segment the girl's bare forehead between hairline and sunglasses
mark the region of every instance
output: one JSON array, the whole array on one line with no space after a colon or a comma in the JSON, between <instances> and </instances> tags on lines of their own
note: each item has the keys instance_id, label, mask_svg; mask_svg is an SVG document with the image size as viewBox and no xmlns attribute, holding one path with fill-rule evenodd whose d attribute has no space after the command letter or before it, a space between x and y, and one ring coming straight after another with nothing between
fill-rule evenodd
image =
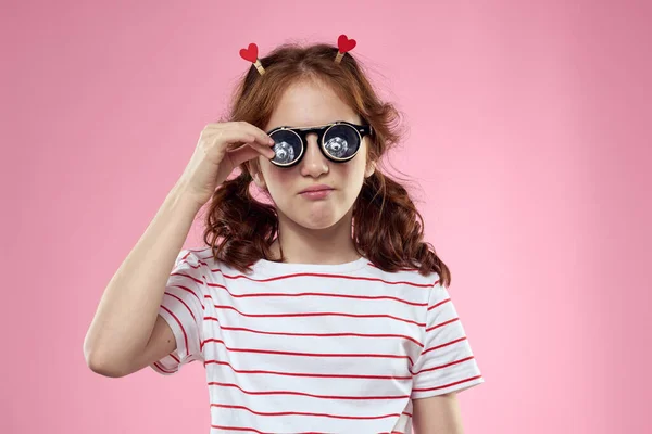
<instances>
[{"instance_id":1,"label":"girl's bare forehead between hairline and sunglasses","mask_svg":"<svg viewBox=\"0 0 652 434\"><path fill-rule=\"evenodd\" d=\"M303 80L289 86L265 126L310 127L335 120L360 123L360 117L333 89L321 81Z\"/></svg>"}]
</instances>

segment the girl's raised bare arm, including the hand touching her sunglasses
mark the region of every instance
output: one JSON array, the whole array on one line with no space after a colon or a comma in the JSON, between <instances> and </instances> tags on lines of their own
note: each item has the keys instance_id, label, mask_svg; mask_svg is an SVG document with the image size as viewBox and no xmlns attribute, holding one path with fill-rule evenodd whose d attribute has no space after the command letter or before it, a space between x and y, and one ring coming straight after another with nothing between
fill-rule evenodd
<instances>
[{"instance_id":1,"label":"girl's raised bare arm, including the hand touching her sunglasses","mask_svg":"<svg viewBox=\"0 0 652 434\"><path fill-rule=\"evenodd\" d=\"M236 167L259 155L272 158L273 144L269 136L246 122L203 128L179 181L102 294L84 340L91 370L106 376L127 375L176 348L159 308L192 221Z\"/></svg>"}]
</instances>

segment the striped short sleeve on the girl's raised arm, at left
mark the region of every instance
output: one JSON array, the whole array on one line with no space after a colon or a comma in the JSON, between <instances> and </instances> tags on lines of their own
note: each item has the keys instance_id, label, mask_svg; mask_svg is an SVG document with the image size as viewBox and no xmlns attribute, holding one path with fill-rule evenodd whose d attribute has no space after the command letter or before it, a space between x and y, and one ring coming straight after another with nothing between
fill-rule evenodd
<instances>
[{"instance_id":1,"label":"striped short sleeve on the girl's raised arm, at left","mask_svg":"<svg viewBox=\"0 0 652 434\"><path fill-rule=\"evenodd\" d=\"M171 375L181 366L203 361L203 310L206 284L199 258L189 250L181 250L165 285L159 315L170 324L177 348L150 367Z\"/></svg>"}]
</instances>

